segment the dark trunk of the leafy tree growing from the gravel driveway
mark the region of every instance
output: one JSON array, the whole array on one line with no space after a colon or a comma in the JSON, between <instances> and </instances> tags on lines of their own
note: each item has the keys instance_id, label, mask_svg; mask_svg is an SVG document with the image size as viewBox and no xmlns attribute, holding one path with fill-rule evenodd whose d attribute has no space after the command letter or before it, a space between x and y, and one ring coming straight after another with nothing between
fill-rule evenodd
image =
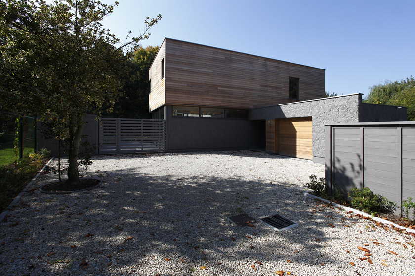
<instances>
[{"instance_id":1,"label":"dark trunk of the leafy tree growing from the gravel driveway","mask_svg":"<svg viewBox=\"0 0 415 276\"><path fill-rule=\"evenodd\" d=\"M73 120L72 126L69 127L68 182L71 184L79 183L78 151L79 142L82 136L83 124L83 116L77 116L77 119Z\"/></svg>"}]
</instances>

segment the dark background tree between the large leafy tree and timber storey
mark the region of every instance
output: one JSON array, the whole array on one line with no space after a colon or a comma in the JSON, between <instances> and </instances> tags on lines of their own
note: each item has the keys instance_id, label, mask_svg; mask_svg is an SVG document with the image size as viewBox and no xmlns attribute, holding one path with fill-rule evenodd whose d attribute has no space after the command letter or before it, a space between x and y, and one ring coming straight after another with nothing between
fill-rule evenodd
<instances>
[{"instance_id":1,"label":"dark background tree between the large leafy tree and timber storey","mask_svg":"<svg viewBox=\"0 0 415 276\"><path fill-rule=\"evenodd\" d=\"M122 86L123 95L115 103L112 112L103 112L103 116L114 118L151 118L148 112L148 94L150 93L150 65L159 50L159 46L139 46L132 51L126 63L127 73Z\"/></svg>"}]
</instances>

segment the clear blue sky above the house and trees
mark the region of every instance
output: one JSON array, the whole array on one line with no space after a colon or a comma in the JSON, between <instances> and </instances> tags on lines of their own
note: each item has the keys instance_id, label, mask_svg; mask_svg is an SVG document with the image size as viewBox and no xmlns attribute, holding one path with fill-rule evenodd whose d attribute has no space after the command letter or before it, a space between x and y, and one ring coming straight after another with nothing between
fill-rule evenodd
<instances>
[{"instance_id":1,"label":"clear blue sky above the house and trees","mask_svg":"<svg viewBox=\"0 0 415 276\"><path fill-rule=\"evenodd\" d=\"M113 1L102 0L104 3ZM104 26L326 69L326 91L367 94L374 84L415 76L415 1L119 0Z\"/></svg>"}]
</instances>

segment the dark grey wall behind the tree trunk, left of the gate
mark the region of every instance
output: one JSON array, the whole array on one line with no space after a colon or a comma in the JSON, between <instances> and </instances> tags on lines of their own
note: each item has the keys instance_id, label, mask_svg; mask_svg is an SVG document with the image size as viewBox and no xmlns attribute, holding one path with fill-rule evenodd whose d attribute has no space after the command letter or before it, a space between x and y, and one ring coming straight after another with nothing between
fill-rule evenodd
<instances>
[{"instance_id":1,"label":"dark grey wall behind the tree trunk, left of the gate","mask_svg":"<svg viewBox=\"0 0 415 276\"><path fill-rule=\"evenodd\" d=\"M81 139L81 142L84 140L88 140L91 145L96 145L97 141L97 133L98 133L98 122L96 121L95 115L86 115L84 117L85 125L83 127L83 135L86 135L85 138ZM58 156L58 141L55 139L46 139L44 137L45 126L42 123L38 123L38 149L47 148L51 151L52 156ZM95 153L98 152L98 148L96 148ZM61 149L61 155L67 156L68 153L63 152Z\"/></svg>"}]
</instances>

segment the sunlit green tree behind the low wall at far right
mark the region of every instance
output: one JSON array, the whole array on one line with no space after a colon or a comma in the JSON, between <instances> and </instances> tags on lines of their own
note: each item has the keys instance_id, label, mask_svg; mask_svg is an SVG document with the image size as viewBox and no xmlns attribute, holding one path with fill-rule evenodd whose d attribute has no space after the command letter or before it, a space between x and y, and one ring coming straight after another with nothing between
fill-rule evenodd
<instances>
[{"instance_id":1,"label":"sunlit green tree behind the low wall at far right","mask_svg":"<svg viewBox=\"0 0 415 276\"><path fill-rule=\"evenodd\" d=\"M415 121L415 78L373 85L365 102L407 107L408 121Z\"/></svg>"}]
</instances>

